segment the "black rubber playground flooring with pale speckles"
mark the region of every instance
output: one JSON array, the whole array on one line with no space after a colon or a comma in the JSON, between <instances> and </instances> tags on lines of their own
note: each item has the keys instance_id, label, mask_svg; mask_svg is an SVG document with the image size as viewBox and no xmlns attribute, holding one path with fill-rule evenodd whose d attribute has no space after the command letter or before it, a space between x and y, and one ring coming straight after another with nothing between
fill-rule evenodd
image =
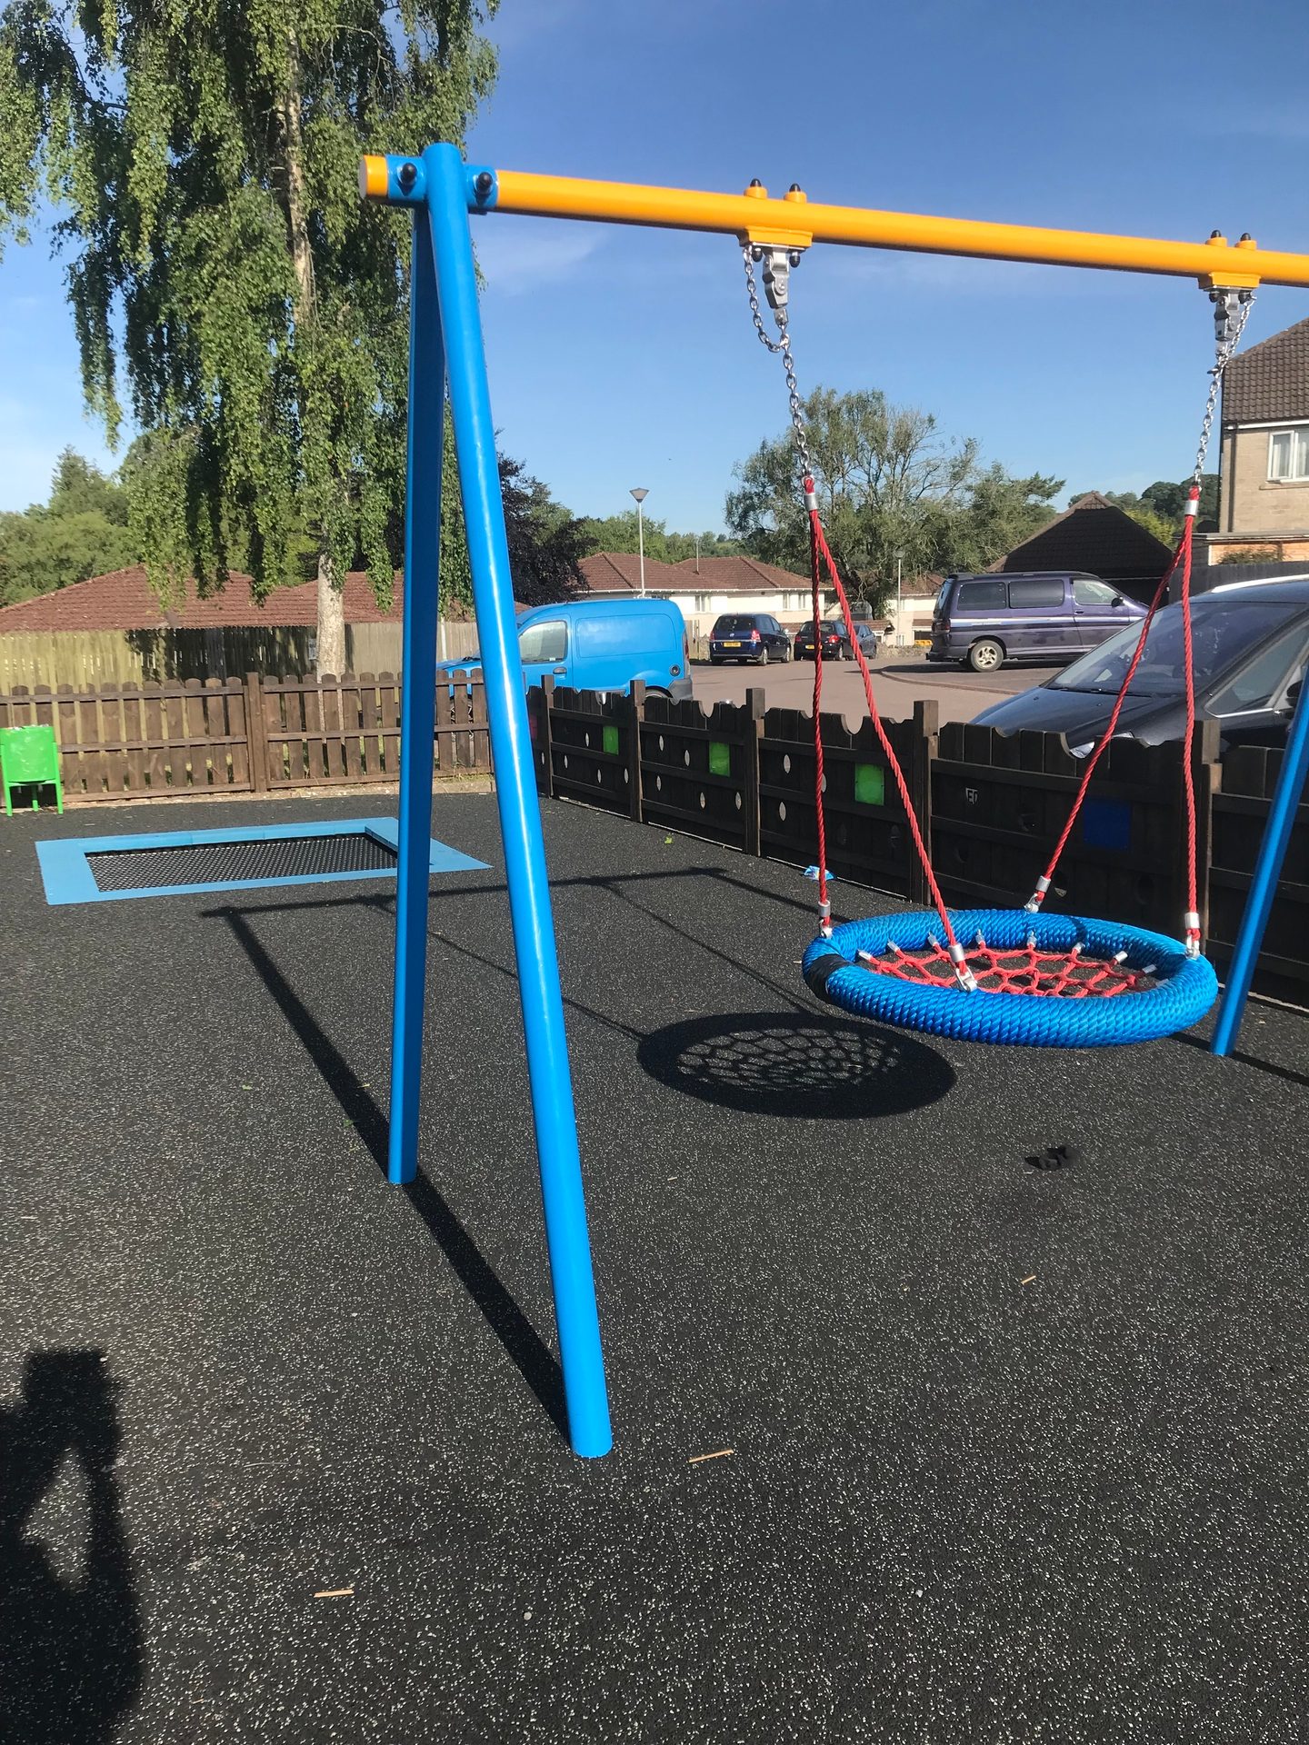
<instances>
[{"instance_id":1,"label":"black rubber playground flooring with pale speckles","mask_svg":"<svg viewBox=\"0 0 1309 1745\"><path fill-rule=\"evenodd\" d=\"M433 810L490 871L433 881L414 1192L387 888L49 909L31 848L361 810L0 820L2 1740L1306 1736L1309 1019L897 1037L803 989L791 869L550 804L579 1462L494 801Z\"/></svg>"}]
</instances>

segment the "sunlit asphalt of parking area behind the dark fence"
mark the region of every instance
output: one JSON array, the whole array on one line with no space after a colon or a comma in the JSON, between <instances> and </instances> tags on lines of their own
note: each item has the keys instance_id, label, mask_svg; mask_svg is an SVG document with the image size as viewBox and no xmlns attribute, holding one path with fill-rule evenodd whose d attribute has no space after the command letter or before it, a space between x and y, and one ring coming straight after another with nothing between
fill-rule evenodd
<instances>
[{"instance_id":1,"label":"sunlit asphalt of parking area behind the dark fence","mask_svg":"<svg viewBox=\"0 0 1309 1745\"><path fill-rule=\"evenodd\" d=\"M892 721L913 714L920 696L934 696L942 721L972 721L983 708L1016 691L1044 684L1058 667L1005 667L998 674L967 672L963 667L934 667L925 660L888 649L873 668L873 695ZM763 689L770 708L808 708L813 698L813 663L787 661L768 667L691 668L695 695L702 703L742 701L747 688ZM852 661L824 661L822 707L850 721L867 714L864 682Z\"/></svg>"}]
</instances>

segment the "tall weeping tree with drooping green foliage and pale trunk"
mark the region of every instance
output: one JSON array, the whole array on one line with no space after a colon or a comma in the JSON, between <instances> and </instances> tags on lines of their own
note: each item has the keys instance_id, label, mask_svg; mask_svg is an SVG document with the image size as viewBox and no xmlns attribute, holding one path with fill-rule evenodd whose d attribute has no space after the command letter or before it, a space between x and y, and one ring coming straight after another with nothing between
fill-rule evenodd
<instances>
[{"instance_id":1,"label":"tall weeping tree with drooping green foliage and pale trunk","mask_svg":"<svg viewBox=\"0 0 1309 1745\"><path fill-rule=\"evenodd\" d=\"M229 565L386 602L403 501L408 220L358 199L363 152L463 143L497 0L10 0L0 243L54 209L87 405L117 441L161 597ZM302 571L300 571L302 572Z\"/></svg>"}]
</instances>

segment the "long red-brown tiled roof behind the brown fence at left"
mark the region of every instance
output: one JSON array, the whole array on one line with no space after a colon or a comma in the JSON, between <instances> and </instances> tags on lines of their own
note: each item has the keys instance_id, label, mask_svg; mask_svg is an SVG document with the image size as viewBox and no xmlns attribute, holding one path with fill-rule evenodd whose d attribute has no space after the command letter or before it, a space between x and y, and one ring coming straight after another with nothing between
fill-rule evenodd
<instances>
[{"instance_id":1,"label":"long red-brown tiled roof behind the brown fence at left","mask_svg":"<svg viewBox=\"0 0 1309 1745\"><path fill-rule=\"evenodd\" d=\"M363 572L346 578L347 625L396 625L401 616L403 578L396 576L394 602L382 612ZM19 630L216 630L222 626L279 628L318 623L318 583L274 588L260 606L250 592L250 576L230 574L227 586L201 600L195 583L187 583L187 597L162 611L152 592L145 567L115 569L106 576L75 581L54 593L37 595L0 607L0 635Z\"/></svg>"}]
</instances>

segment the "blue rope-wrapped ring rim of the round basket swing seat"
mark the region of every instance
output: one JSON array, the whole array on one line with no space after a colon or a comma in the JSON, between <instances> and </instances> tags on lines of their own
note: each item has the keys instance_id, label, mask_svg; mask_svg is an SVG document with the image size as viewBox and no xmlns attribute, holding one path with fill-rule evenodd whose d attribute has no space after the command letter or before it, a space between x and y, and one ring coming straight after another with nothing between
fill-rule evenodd
<instances>
[{"instance_id":1,"label":"blue rope-wrapped ring rim of the round basket swing seat","mask_svg":"<svg viewBox=\"0 0 1309 1745\"><path fill-rule=\"evenodd\" d=\"M845 921L831 939L815 939L803 958L803 975L813 993L860 1017L880 1019L934 1037L962 1042L1000 1042L1061 1049L1100 1049L1122 1042L1152 1042L1190 1030L1218 996L1218 977L1206 958L1189 958L1185 946L1126 921L1091 921L1077 914L1028 914L1025 909L951 909L958 939L979 932L997 951L1019 949L1035 934L1049 951L1070 951L1080 942L1087 956L1112 958L1126 951L1129 968L1154 965L1159 979L1143 993L1070 1000L1031 993L988 993L934 982L902 981L864 968L859 951L881 956L888 942L920 951L929 934L941 934L935 911L874 914Z\"/></svg>"}]
</instances>

